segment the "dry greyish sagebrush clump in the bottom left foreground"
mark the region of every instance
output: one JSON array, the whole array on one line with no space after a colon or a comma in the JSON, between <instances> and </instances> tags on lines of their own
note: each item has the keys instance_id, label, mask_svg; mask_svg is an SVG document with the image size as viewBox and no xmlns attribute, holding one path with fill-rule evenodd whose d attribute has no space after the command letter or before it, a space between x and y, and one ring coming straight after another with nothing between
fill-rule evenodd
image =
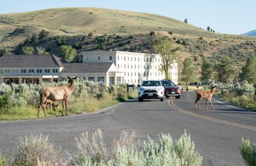
<instances>
[{"instance_id":1,"label":"dry greyish sagebrush clump in the bottom left foreground","mask_svg":"<svg viewBox=\"0 0 256 166\"><path fill-rule=\"evenodd\" d=\"M20 140L14 163L17 165L55 164L60 160L60 149L56 150L48 136L30 135Z\"/></svg>"}]
</instances>

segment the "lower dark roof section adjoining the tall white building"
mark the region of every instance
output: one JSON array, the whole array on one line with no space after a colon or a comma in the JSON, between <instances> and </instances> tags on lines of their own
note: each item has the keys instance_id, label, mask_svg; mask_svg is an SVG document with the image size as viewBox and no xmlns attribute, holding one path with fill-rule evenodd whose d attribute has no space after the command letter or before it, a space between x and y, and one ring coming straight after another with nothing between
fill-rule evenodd
<instances>
[{"instance_id":1,"label":"lower dark roof section adjoining the tall white building","mask_svg":"<svg viewBox=\"0 0 256 166\"><path fill-rule=\"evenodd\" d=\"M106 73L113 63L63 63L60 73Z\"/></svg>"}]
</instances>

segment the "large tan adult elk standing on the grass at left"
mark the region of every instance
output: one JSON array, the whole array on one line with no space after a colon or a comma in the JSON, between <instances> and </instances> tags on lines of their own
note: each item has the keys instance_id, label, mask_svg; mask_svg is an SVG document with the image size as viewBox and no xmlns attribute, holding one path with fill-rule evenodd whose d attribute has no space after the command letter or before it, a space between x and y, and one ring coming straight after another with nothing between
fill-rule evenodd
<instances>
[{"instance_id":1,"label":"large tan adult elk standing on the grass at left","mask_svg":"<svg viewBox=\"0 0 256 166\"><path fill-rule=\"evenodd\" d=\"M47 100L51 101L62 101L62 116L64 116L64 107L66 108L66 116L67 116L67 101L70 98L72 92L74 91L75 86L75 78L68 78L68 86L59 86L59 87L45 87L41 90L40 93L40 105L38 107L37 117L39 117L39 113L41 107L44 109L44 116L46 116L45 105ZM64 106L65 105L65 106Z\"/></svg>"}]
</instances>

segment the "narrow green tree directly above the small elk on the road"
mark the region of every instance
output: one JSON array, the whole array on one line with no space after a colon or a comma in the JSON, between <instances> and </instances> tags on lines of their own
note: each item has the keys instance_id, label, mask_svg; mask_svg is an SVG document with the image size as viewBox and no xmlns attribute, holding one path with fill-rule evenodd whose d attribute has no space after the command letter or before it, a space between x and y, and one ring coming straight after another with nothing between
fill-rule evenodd
<instances>
[{"instance_id":1,"label":"narrow green tree directly above the small elk on the road","mask_svg":"<svg viewBox=\"0 0 256 166\"><path fill-rule=\"evenodd\" d=\"M213 66L208 58L202 59L202 67L201 67L201 81L208 81L212 79L213 74Z\"/></svg>"}]
</instances>

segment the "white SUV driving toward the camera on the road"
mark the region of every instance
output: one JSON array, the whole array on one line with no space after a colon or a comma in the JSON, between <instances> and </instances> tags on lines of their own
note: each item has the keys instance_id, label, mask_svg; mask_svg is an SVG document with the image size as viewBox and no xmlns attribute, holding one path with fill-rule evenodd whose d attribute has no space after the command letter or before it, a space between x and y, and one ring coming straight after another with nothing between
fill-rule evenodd
<instances>
[{"instance_id":1,"label":"white SUV driving toward the camera on the road","mask_svg":"<svg viewBox=\"0 0 256 166\"><path fill-rule=\"evenodd\" d=\"M139 86L138 100L160 98L163 101L165 97L165 88L160 80L144 80Z\"/></svg>"}]
</instances>

